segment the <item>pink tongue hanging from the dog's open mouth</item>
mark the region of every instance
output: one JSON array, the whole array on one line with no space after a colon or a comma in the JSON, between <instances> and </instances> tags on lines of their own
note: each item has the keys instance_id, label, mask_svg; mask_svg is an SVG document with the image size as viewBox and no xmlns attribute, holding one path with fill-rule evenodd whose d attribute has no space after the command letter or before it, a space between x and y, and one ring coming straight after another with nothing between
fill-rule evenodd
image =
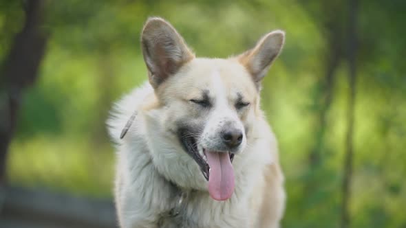
<instances>
[{"instance_id":1,"label":"pink tongue hanging from the dog's open mouth","mask_svg":"<svg viewBox=\"0 0 406 228\"><path fill-rule=\"evenodd\" d=\"M234 170L228 152L206 152L209 172L209 193L217 201L225 201L234 192Z\"/></svg>"}]
</instances>

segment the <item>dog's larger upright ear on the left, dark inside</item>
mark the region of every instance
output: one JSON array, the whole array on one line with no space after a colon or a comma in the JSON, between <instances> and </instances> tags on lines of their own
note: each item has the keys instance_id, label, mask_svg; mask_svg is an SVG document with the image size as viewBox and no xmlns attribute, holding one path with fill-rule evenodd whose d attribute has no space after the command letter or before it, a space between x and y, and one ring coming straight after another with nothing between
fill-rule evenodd
<instances>
[{"instance_id":1,"label":"dog's larger upright ear on the left, dark inside","mask_svg":"<svg viewBox=\"0 0 406 228\"><path fill-rule=\"evenodd\" d=\"M175 28L157 17L150 18L145 23L141 47L153 88L157 88L184 63L195 57Z\"/></svg>"}]
</instances>

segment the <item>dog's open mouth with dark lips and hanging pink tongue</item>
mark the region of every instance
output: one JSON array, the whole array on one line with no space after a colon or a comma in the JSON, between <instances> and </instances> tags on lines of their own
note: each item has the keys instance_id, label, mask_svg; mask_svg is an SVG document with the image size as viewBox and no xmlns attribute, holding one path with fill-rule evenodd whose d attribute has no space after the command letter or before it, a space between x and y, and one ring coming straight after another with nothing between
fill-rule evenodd
<instances>
[{"instance_id":1,"label":"dog's open mouth with dark lips and hanging pink tongue","mask_svg":"<svg viewBox=\"0 0 406 228\"><path fill-rule=\"evenodd\" d=\"M203 148L202 153L197 148L196 139L186 130L180 131L180 141L184 150L193 157L204 178L209 181L209 193L217 201L225 201L234 192L234 170L231 152L211 151Z\"/></svg>"}]
</instances>

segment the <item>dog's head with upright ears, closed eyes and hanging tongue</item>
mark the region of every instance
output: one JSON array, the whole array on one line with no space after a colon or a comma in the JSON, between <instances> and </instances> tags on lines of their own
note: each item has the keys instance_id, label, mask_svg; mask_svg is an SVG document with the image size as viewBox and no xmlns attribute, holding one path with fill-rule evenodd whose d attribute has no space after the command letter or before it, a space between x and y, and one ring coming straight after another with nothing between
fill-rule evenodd
<instances>
[{"instance_id":1,"label":"dog's head with upright ears, closed eyes and hanging tongue","mask_svg":"<svg viewBox=\"0 0 406 228\"><path fill-rule=\"evenodd\" d=\"M284 45L284 32L228 59L195 58L167 21L152 18L141 37L149 82L164 112L162 130L173 135L209 181L216 200L231 197L233 157L244 152L259 111L260 82ZM195 166L195 165L194 165Z\"/></svg>"}]
</instances>

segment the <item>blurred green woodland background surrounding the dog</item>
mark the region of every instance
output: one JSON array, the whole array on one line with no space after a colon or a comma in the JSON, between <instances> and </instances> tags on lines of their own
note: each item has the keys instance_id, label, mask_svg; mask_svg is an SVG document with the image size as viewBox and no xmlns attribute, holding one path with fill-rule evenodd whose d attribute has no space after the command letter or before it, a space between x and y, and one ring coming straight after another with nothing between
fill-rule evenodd
<instances>
[{"instance_id":1,"label":"blurred green woodland background surrounding the dog","mask_svg":"<svg viewBox=\"0 0 406 228\"><path fill-rule=\"evenodd\" d=\"M169 20L197 56L270 30L264 79L284 227L406 227L406 1L0 1L0 227L114 227L112 102L147 79L139 37Z\"/></svg>"}]
</instances>

